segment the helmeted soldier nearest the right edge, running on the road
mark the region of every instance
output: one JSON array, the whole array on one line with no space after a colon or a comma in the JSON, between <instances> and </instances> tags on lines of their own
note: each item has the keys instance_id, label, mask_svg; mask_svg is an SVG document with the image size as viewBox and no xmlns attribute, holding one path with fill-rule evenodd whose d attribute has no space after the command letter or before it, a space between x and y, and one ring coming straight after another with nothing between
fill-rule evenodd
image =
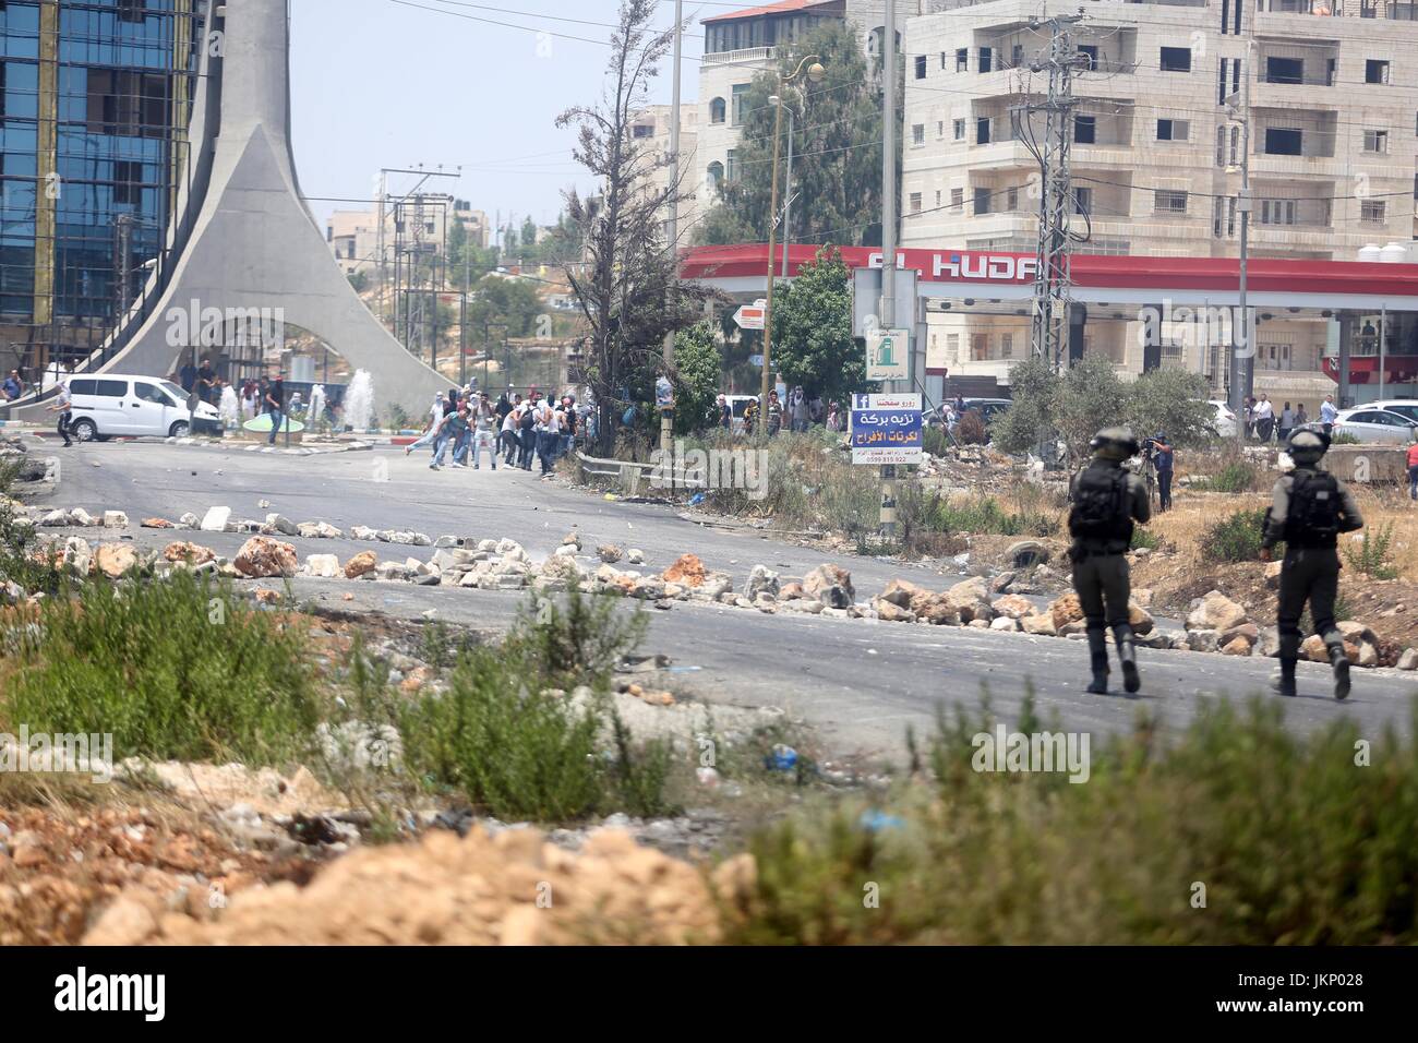
<instances>
[{"instance_id":1,"label":"helmeted soldier nearest the right edge, running on the road","mask_svg":"<svg viewBox=\"0 0 1418 1043\"><path fill-rule=\"evenodd\" d=\"M1261 561L1271 561L1273 548L1285 541L1280 566L1280 678L1276 691L1295 695L1295 663L1300 657L1300 613L1310 603L1314 633L1324 639L1334 668L1334 698L1349 695L1349 656L1344 637L1334 626L1334 597L1339 595L1339 534L1364 526L1354 494L1320 460L1329 451L1329 437L1300 430L1290 436L1289 454L1295 470L1275 482L1275 498L1265 515Z\"/></svg>"}]
</instances>

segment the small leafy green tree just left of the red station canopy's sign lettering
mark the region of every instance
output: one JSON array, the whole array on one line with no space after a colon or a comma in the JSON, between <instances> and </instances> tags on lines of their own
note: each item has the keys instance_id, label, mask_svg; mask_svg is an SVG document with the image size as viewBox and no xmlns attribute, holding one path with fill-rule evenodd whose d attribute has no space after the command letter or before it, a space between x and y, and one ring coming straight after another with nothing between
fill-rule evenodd
<instances>
[{"instance_id":1,"label":"small leafy green tree just left of the red station canopy's sign lettering","mask_svg":"<svg viewBox=\"0 0 1418 1043\"><path fill-rule=\"evenodd\" d=\"M852 336L847 264L822 247L791 284L774 288L771 365L788 387L841 399L864 390L866 353Z\"/></svg>"}]
</instances>

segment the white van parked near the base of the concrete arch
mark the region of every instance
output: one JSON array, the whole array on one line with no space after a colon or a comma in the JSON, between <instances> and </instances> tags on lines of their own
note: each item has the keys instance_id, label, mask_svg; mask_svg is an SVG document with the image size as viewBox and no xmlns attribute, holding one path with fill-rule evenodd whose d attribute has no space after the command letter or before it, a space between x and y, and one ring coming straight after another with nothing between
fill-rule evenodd
<instances>
[{"instance_id":1,"label":"white van parked near the base of the concrete arch","mask_svg":"<svg viewBox=\"0 0 1418 1043\"><path fill-rule=\"evenodd\" d=\"M197 434L221 433L216 407L197 403L194 416L187 409L187 393L172 380L121 373L75 376L69 377L69 433L79 441L113 436L182 438L193 429Z\"/></svg>"}]
</instances>

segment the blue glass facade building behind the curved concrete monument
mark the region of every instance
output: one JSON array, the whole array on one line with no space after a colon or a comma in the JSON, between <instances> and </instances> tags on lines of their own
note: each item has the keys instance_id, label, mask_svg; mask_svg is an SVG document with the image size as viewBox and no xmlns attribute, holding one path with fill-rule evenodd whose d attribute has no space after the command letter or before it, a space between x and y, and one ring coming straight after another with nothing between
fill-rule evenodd
<instances>
[{"instance_id":1,"label":"blue glass facade building behind the curved concrete monument","mask_svg":"<svg viewBox=\"0 0 1418 1043\"><path fill-rule=\"evenodd\" d=\"M4 370L72 368L166 260L204 9L0 0Z\"/></svg>"}]
</instances>

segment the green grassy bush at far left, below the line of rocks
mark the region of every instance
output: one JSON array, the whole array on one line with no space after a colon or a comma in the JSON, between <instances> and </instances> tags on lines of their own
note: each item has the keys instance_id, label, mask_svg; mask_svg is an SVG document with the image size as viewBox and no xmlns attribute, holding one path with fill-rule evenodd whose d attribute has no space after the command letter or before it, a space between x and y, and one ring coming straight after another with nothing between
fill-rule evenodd
<instances>
[{"instance_id":1,"label":"green grassy bush at far left, below the line of rocks","mask_svg":"<svg viewBox=\"0 0 1418 1043\"><path fill-rule=\"evenodd\" d=\"M118 756L278 763L319 711L302 627L187 572L45 599L0 708L35 732L112 732Z\"/></svg>"}]
</instances>

